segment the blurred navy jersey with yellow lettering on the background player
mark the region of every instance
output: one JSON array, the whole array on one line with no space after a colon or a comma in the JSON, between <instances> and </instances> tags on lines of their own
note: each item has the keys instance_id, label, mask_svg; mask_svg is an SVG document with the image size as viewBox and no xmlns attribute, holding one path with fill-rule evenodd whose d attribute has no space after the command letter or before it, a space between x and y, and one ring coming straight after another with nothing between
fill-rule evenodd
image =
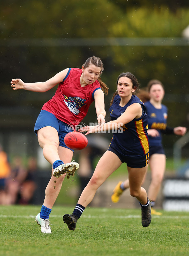
<instances>
[{"instance_id":1,"label":"blurred navy jersey with yellow lettering on the background player","mask_svg":"<svg viewBox=\"0 0 189 256\"><path fill-rule=\"evenodd\" d=\"M161 131L167 127L167 112L168 109L165 105L162 105L161 109L156 109L150 101L145 102L146 114L148 115L148 128L156 129L159 132L159 136L152 137L149 135L149 146L162 147L162 134Z\"/></svg>"}]
</instances>

